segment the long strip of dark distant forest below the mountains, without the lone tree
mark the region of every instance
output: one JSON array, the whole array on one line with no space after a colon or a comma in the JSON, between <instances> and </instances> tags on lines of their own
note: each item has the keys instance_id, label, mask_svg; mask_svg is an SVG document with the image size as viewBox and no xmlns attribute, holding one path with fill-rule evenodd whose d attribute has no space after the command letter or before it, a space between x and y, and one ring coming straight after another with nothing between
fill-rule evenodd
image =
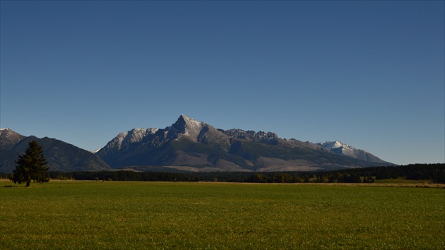
<instances>
[{"instance_id":1,"label":"long strip of dark distant forest below the mountains, without the lone tree","mask_svg":"<svg viewBox=\"0 0 445 250\"><path fill-rule=\"evenodd\" d=\"M445 164L411 164L401 166L363 167L317 172L48 172L51 179L76 179L97 181L223 181L257 183L372 183L379 179L430 179L445 183ZM0 174L9 178L10 174Z\"/></svg>"}]
</instances>

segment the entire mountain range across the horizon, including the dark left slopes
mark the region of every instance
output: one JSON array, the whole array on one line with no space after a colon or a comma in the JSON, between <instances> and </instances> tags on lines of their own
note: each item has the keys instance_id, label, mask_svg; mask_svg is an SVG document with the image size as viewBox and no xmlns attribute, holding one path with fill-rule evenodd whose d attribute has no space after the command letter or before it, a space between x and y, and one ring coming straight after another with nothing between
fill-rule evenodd
<instances>
[{"instance_id":1,"label":"entire mountain range across the horizon, including the dark left slopes","mask_svg":"<svg viewBox=\"0 0 445 250\"><path fill-rule=\"evenodd\" d=\"M131 129L119 133L94 153L52 138L22 136L0 130L0 172L30 140L43 146L53 171L135 169L168 172L307 171L393 165L340 141L326 143L283 139L276 133L215 129L182 114L165 129Z\"/></svg>"}]
</instances>

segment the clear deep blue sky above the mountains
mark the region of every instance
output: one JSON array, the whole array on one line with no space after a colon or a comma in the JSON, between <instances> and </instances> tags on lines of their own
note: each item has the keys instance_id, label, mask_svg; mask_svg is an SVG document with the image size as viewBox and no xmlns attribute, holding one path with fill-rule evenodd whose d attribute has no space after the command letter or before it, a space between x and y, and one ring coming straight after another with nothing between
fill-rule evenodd
<instances>
[{"instance_id":1,"label":"clear deep blue sky above the mountains","mask_svg":"<svg viewBox=\"0 0 445 250\"><path fill-rule=\"evenodd\" d=\"M180 114L445 162L444 1L1 1L1 124L94 150Z\"/></svg>"}]
</instances>

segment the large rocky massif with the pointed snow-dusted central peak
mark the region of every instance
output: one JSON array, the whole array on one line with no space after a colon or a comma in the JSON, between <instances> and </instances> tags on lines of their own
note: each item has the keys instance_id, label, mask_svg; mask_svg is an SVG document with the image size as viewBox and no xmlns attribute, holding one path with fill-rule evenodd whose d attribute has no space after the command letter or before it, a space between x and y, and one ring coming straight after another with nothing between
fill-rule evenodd
<instances>
[{"instance_id":1,"label":"large rocky massif with the pointed snow-dusted central peak","mask_svg":"<svg viewBox=\"0 0 445 250\"><path fill-rule=\"evenodd\" d=\"M339 154L323 145L277 134L215 129L181 115L165 129L119 133L97 156L114 168L183 171L304 171L391 165L377 157ZM360 154L358 154L360 155ZM369 154L371 155L371 154Z\"/></svg>"}]
</instances>

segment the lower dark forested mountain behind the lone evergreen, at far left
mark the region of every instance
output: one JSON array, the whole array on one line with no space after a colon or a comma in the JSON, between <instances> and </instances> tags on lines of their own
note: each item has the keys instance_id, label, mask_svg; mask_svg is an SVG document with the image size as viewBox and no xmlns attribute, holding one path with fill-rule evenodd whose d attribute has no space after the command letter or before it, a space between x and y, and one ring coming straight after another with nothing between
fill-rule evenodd
<instances>
[{"instance_id":1,"label":"lower dark forested mountain behind the lone evergreen, at far left","mask_svg":"<svg viewBox=\"0 0 445 250\"><path fill-rule=\"evenodd\" d=\"M100 157L69 143L52 138L22 136L11 129L0 130L0 172L12 172L15 160L23 155L30 141L37 141L43 147L49 171L73 172L111 169Z\"/></svg>"}]
</instances>

